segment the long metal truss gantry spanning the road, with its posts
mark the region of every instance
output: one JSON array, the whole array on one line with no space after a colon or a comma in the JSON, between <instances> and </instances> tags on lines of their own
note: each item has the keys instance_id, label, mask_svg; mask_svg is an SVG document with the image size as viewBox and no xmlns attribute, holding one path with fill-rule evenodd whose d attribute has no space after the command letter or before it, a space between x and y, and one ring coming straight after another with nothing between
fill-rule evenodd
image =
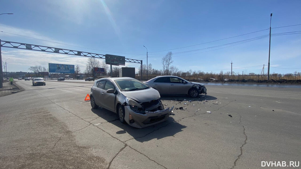
<instances>
[{"instance_id":1,"label":"long metal truss gantry spanning the road, with its posts","mask_svg":"<svg viewBox=\"0 0 301 169\"><path fill-rule=\"evenodd\" d=\"M0 45L0 62L2 62L2 56L1 56L1 48L16 48L16 49L25 49L25 50L31 50L31 51L41 51L41 52L51 52L51 53L57 53L57 54L69 54L74 56L83 56L83 57L94 57L99 59L105 59L106 55L108 54L95 54L91 52L82 52L82 51L75 51L70 49L62 49L62 48L54 48L49 46L42 46L42 45L33 45L33 44L27 44L27 43L20 43L20 42L12 42L12 41L2 41L0 39L1 45ZM142 70L142 60L136 60L136 59L129 59L125 58L126 62L131 63L140 63L141 70ZM0 88L2 88L2 82L3 82L3 71L2 71L2 63L0 65L0 76L1 76L1 84ZM142 79L142 71L141 71L141 79Z\"/></svg>"}]
</instances>

